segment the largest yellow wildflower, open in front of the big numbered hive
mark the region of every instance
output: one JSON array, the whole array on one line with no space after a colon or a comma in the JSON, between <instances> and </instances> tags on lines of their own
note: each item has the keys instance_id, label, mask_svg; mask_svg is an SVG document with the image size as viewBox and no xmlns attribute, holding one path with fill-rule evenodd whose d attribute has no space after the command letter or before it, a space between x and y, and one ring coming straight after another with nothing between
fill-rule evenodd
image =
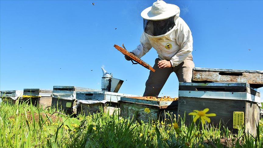
<instances>
[{"instance_id":1,"label":"largest yellow wildflower, open in front of the big numbered hive","mask_svg":"<svg viewBox=\"0 0 263 148\"><path fill-rule=\"evenodd\" d=\"M215 113L206 114L208 111L209 111L209 108L205 108L203 111L194 110L194 112L191 112L188 115L195 115L193 122L196 122L198 118L201 118L202 124L205 124L205 121L207 121L208 123L211 122L210 118L208 117L216 116Z\"/></svg>"}]
</instances>

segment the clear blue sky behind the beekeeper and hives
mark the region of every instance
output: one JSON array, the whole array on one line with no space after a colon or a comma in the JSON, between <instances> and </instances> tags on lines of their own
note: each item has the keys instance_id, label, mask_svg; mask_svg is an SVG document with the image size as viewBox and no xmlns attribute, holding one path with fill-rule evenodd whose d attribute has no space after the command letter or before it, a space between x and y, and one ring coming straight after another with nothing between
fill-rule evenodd
<instances>
[{"instance_id":1,"label":"clear blue sky behind the beekeeper and hives","mask_svg":"<svg viewBox=\"0 0 263 148\"><path fill-rule=\"evenodd\" d=\"M153 2L1 0L0 89L100 89L104 67L124 80L120 93L142 95L149 70L126 61L113 45L136 48L140 13ZM180 7L191 29L196 67L263 70L262 1L166 2ZM142 60L153 66L156 57L151 49ZM163 95L178 96L175 74Z\"/></svg>"}]
</instances>

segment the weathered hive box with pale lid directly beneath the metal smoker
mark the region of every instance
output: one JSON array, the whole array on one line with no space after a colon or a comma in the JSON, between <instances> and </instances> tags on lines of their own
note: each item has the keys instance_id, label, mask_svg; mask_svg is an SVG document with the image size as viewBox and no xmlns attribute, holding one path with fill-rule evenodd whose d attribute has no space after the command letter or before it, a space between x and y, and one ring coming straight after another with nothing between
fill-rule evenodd
<instances>
[{"instance_id":1,"label":"weathered hive box with pale lid directly beneath the metal smoker","mask_svg":"<svg viewBox=\"0 0 263 148\"><path fill-rule=\"evenodd\" d=\"M77 113L84 112L85 115L89 115L100 111L102 107L105 113L109 112L110 115L113 113L118 113L119 104L118 101L121 97L139 97L137 95L124 94L124 93L114 93L107 91L94 91L94 92L77 92L76 99L77 103Z\"/></svg>"}]
</instances>

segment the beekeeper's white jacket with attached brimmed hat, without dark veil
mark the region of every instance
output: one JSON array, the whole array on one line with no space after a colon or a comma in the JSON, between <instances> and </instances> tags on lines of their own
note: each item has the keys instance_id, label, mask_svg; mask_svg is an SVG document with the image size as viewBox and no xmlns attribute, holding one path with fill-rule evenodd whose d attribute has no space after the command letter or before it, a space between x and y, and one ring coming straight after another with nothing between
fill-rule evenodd
<instances>
[{"instance_id":1,"label":"beekeeper's white jacket with attached brimmed hat, without dark veil","mask_svg":"<svg viewBox=\"0 0 263 148\"><path fill-rule=\"evenodd\" d=\"M163 1L157 1L155 3L158 2L160 3L159 5L163 5L163 3L165 3ZM153 6L156 6L154 4ZM191 30L184 20L179 17L179 7L177 5L172 6L172 12L167 12L169 14L167 14L165 17L174 17L173 28L165 34L158 36L153 36L153 34L149 35L148 33L143 32L140 39L141 44L139 44L137 48L132 51L138 58L141 58L153 47L158 53L158 58L161 60L170 60L172 66L174 67L183 62L193 51L193 38ZM145 9L141 13L141 16L144 19L156 21L162 18L159 15L149 17L146 13L149 8Z\"/></svg>"}]
</instances>

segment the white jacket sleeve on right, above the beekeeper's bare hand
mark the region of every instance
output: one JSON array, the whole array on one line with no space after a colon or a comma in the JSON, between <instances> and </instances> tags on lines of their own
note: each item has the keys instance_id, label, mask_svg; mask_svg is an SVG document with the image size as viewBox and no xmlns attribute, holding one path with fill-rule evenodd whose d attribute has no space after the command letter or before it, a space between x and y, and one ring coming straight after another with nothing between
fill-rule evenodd
<instances>
[{"instance_id":1,"label":"white jacket sleeve on right, above the beekeeper's bare hand","mask_svg":"<svg viewBox=\"0 0 263 148\"><path fill-rule=\"evenodd\" d=\"M181 49L170 60L173 67L183 62L193 51L192 33L184 21L178 25L175 40Z\"/></svg>"}]
</instances>

